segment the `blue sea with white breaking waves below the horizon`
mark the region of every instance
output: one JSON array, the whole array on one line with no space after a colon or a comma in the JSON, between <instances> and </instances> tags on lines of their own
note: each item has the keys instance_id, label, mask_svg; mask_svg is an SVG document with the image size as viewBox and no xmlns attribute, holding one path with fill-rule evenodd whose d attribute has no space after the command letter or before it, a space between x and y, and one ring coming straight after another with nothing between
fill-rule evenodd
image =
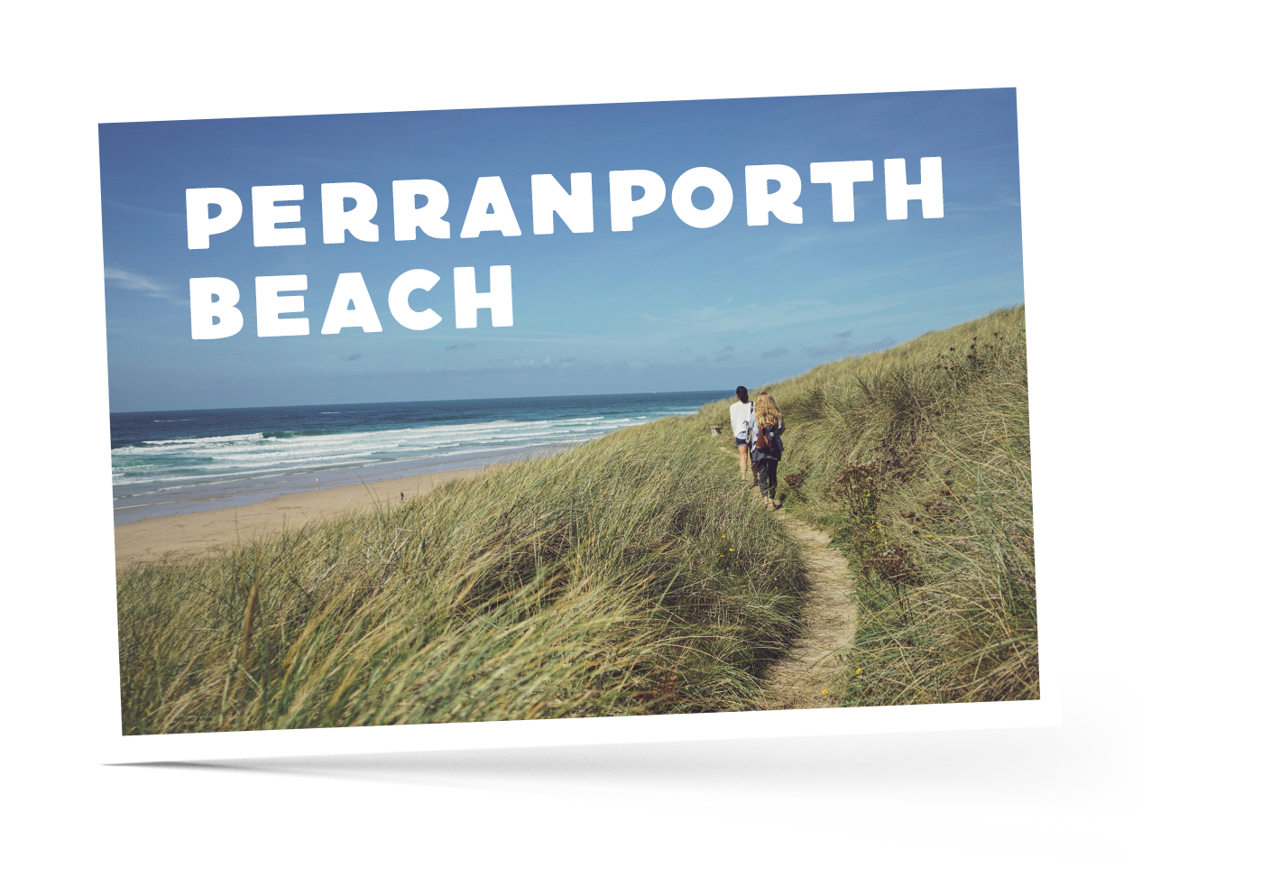
<instances>
[{"instance_id":1,"label":"blue sea with white breaking waves below the horizon","mask_svg":"<svg viewBox=\"0 0 1271 896\"><path fill-rule=\"evenodd\" d=\"M691 414L727 391L111 414L114 522L516 460Z\"/></svg>"}]
</instances>

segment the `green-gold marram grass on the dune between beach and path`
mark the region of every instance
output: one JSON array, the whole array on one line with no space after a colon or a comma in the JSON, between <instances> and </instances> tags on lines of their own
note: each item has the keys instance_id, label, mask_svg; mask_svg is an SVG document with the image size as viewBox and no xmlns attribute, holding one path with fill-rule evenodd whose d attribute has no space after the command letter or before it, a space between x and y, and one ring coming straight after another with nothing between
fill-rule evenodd
<instances>
[{"instance_id":1,"label":"green-gold marram grass on the dune between beach and path","mask_svg":"<svg viewBox=\"0 0 1271 896\"><path fill-rule=\"evenodd\" d=\"M126 571L125 732L751 708L801 564L717 454L661 419Z\"/></svg>"}]
</instances>

